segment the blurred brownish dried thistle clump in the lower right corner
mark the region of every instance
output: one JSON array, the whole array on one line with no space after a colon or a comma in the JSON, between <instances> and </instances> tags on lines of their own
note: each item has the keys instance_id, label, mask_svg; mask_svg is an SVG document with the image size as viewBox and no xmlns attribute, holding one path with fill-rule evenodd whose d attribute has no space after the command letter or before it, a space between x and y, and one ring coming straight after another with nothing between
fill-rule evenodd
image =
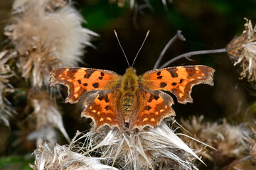
<instances>
[{"instance_id":1,"label":"blurred brownish dried thistle clump in the lower right corner","mask_svg":"<svg viewBox=\"0 0 256 170\"><path fill-rule=\"evenodd\" d=\"M181 120L181 124L188 132L195 135L197 140L214 147L216 150L203 149L203 157L218 164L227 165L233 159L240 159L249 152L252 131L244 124L230 125L225 120L222 123L203 123L203 116L192 120ZM185 130L182 130L186 134ZM187 138L181 137L183 141ZM191 142L191 148L200 149L203 146L198 142Z\"/></svg>"}]
</instances>

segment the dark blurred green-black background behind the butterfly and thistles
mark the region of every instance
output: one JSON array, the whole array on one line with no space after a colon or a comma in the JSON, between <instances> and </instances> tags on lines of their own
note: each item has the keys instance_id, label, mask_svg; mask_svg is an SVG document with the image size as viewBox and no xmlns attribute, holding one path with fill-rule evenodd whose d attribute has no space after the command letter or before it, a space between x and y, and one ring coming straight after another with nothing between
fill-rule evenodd
<instances>
[{"instance_id":1,"label":"dark blurred green-black background behind the butterfly and thistles","mask_svg":"<svg viewBox=\"0 0 256 170\"><path fill-rule=\"evenodd\" d=\"M185 52L213 50L228 45L235 35L244 30L244 18L256 23L255 0L173 0L166 6L160 0L136 1L134 9L125 4L105 0L72 1L87 21L84 26L100 34L87 47L83 57L85 64L80 67L108 69L124 74L128 67L113 30L117 30L119 40L130 63L134 60L142 45L146 31L150 30L144 47L134 64L137 74L153 69L154 63L167 42L182 30L185 42L176 40L164 55L164 62ZM9 22L11 1L0 0L0 29ZM1 31L0 40L6 38ZM205 115L206 120L218 121L226 118L230 123L238 124L255 118L255 110L250 108L255 103L255 87L239 79L239 67L233 67L225 53L198 55L193 61L178 60L170 65L205 64L216 69L215 86L198 85L193 87L193 103L182 105L174 97L176 118L190 118L191 115ZM64 106L64 105L63 105ZM87 121L80 118L80 111L73 112L78 106L65 105L63 120L68 134L72 138L76 130L84 131ZM80 107L80 106L79 106ZM15 119L15 118L14 118ZM18 128L11 123L10 128L0 125L2 141L0 149L0 169L30 169L28 162L34 147L14 145ZM210 169L210 166L209 166Z\"/></svg>"}]
</instances>

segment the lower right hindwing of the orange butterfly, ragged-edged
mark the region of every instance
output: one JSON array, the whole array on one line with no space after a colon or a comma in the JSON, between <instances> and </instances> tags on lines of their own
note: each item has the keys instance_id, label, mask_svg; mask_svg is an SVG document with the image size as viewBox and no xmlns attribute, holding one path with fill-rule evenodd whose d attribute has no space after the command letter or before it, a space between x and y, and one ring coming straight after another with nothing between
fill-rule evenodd
<instances>
[{"instance_id":1,"label":"lower right hindwing of the orange butterfly, ragged-edged","mask_svg":"<svg viewBox=\"0 0 256 170\"><path fill-rule=\"evenodd\" d=\"M137 91L139 109L131 119L130 128L142 130L145 126L155 127L166 117L175 116L171 105L174 103L171 96L162 91Z\"/></svg>"}]
</instances>

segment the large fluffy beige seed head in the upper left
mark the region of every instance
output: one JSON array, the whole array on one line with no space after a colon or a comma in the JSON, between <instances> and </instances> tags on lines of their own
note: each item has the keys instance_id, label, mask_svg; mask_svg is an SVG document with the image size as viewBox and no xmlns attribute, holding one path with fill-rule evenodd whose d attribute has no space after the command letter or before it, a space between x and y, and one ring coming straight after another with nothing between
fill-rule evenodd
<instances>
[{"instance_id":1,"label":"large fluffy beige seed head in the upper left","mask_svg":"<svg viewBox=\"0 0 256 170\"><path fill-rule=\"evenodd\" d=\"M85 21L75 8L60 6L60 2L16 2L13 21L5 28L18 52L22 77L31 79L33 87L48 84L48 75L55 67L81 62L85 45L91 45L92 35L97 35L82 28Z\"/></svg>"}]
</instances>

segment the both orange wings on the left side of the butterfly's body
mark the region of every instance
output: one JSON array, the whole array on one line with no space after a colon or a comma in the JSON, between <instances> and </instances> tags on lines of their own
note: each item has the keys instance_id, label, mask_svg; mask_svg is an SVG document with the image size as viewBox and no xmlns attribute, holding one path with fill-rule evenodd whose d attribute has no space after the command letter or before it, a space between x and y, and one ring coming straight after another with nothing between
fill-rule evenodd
<instances>
[{"instance_id":1,"label":"both orange wings on the left side of the butterfly's body","mask_svg":"<svg viewBox=\"0 0 256 170\"><path fill-rule=\"evenodd\" d=\"M85 110L81 116L91 118L95 130L104 125L122 129L122 119L117 114L120 76L100 69L62 67L50 73L50 86L68 86L65 102L76 103L85 94Z\"/></svg>"}]
</instances>

